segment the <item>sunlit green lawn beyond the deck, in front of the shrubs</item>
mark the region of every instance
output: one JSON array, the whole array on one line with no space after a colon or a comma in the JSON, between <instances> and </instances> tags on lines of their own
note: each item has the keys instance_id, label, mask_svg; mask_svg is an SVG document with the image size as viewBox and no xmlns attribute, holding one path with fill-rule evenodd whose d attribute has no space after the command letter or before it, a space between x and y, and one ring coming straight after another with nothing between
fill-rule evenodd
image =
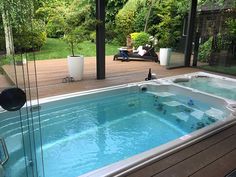
<instances>
[{"instance_id":1,"label":"sunlit green lawn beyond the deck, in front of the shrubs","mask_svg":"<svg viewBox=\"0 0 236 177\"><path fill-rule=\"evenodd\" d=\"M96 56L96 44L84 41L80 43L79 49L77 48L75 54L83 55L85 57ZM106 44L106 55L114 55L117 53L119 46L113 44ZM34 53L36 60L48 60L48 59L59 59L66 58L71 55L70 49L65 41L62 39L52 39L48 38L46 44L38 52ZM21 61L21 55L15 55L16 61ZM33 54L27 54L27 60L33 60ZM0 65L9 63L12 61L12 57L2 57L0 58Z\"/></svg>"}]
</instances>

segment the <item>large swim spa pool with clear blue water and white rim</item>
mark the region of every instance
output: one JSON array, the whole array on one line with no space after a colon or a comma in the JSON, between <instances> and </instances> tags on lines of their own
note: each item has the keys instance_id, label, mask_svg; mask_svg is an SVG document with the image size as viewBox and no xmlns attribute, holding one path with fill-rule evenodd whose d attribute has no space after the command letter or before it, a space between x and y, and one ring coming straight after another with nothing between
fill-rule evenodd
<instances>
[{"instance_id":1,"label":"large swim spa pool with clear blue water and white rim","mask_svg":"<svg viewBox=\"0 0 236 177\"><path fill-rule=\"evenodd\" d=\"M235 121L234 106L156 81L42 99L42 148L36 146L35 158L43 158L46 177L114 176L219 131ZM18 121L13 113L1 113L0 134L9 153L7 177L25 177L32 166L24 162L23 151L27 155L29 149L22 147ZM35 137L37 123L31 132ZM41 170L38 176L43 176Z\"/></svg>"}]
</instances>

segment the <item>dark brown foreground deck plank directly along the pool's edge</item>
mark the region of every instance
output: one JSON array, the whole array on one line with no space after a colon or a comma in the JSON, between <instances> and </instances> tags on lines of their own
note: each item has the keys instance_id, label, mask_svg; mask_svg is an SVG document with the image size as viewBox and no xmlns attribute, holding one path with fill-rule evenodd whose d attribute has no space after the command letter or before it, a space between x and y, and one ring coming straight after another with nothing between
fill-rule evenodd
<instances>
[{"instance_id":1,"label":"dark brown foreground deck plank directly along the pool's edge","mask_svg":"<svg viewBox=\"0 0 236 177\"><path fill-rule=\"evenodd\" d=\"M175 152L168 157L164 157L163 159L157 160L156 162L152 162L147 164L146 166L134 170L131 172L128 177L149 177L153 176L156 173L162 172L171 166L175 166L176 164L184 161L185 159L192 157L205 149L218 144L229 136L236 134L236 125L227 128L226 130L219 132L211 137L208 137L200 142L197 142L189 147L186 147L178 152Z\"/></svg>"}]
</instances>

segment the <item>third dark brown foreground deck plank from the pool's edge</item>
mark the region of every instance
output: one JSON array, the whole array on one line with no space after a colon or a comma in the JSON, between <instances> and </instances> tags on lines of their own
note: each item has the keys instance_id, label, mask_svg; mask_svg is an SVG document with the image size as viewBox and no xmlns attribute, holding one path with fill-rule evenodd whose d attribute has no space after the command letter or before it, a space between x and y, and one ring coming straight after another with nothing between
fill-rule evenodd
<instances>
[{"instance_id":1,"label":"third dark brown foreground deck plank from the pool's edge","mask_svg":"<svg viewBox=\"0 0 236 177\"><path fill-rule=\"evenodd\" d=\"M223 177L234 169L236 169L236 149L190 177Z\"/></svg>"}]
</instances>

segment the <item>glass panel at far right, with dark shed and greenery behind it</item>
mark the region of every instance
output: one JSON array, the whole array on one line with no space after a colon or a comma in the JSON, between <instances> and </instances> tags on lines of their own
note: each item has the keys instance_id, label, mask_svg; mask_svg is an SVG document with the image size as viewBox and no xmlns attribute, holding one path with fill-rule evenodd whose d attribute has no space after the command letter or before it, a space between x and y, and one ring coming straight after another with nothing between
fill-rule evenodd
<instances>
[{"instance_id":1,"label":"glass panel at far right, with dark shed and greenery behind it","mask_svg":"<svg viewBox=\"0 0 236 177\"><path fill-rule=\"evenodd\" d=\"M196 56L203 68L235 74L235 8L235 1L198 4L199 52Z\"/></svg>"}]
</instances>

